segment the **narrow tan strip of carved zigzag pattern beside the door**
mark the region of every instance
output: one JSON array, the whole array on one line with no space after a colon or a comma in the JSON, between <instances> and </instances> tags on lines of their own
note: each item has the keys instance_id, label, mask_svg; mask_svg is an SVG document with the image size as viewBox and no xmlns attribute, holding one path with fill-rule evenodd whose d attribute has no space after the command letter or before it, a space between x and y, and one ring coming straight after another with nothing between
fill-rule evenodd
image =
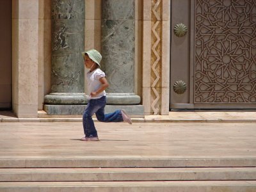
<instances>
[{"instance_id":1,"label":"narrow tan strip of carved zigzag pattern beside the door","mask_svg":"<svg viewBox=\"0 0 256 192\"><path fill-rule=\"evenodd\" d=\"M151 63L151 108L154 115L159 114L161 91L159 88L161 75L161 0L152 0L152 63Z\"/></svg>"}]
</instances>

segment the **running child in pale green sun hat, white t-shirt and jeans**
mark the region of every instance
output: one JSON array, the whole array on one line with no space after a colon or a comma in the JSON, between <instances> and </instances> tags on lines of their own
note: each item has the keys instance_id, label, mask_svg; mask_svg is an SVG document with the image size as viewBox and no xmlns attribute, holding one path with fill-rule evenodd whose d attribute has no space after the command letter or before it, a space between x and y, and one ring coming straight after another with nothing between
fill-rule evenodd
<instances>
[{"instance_id":1,"label":"running child in pale green sun hat, white t-shirt and jeans","mask_svg":"<svg viewBox=\"0 0 256 192\"><path fill-rule=\"evenodd\" d=\"M88 97L88 104L83 113L83 127L84 138L82 141L99 141L97 130L92 120L92 115L95 113L100 122L128 122L132 124L132 120L124 110L116 110L113 113L104 113L106 106L106 88L109 86L106 76L100 70L101 54L92 49L90 51L82 52L84 58L84 65L90 68L87 73L88 90L90 95Z\"/></svg>"}]
</instances>

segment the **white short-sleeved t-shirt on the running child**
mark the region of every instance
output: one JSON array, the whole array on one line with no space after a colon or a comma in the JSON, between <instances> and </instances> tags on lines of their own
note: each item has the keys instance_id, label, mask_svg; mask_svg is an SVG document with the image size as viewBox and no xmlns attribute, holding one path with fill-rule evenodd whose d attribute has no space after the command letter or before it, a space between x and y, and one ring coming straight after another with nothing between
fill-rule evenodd
<instances>
[{"instance_id":1,"label":"white short-sleeved t-shirt on the running child","mask_svg":"<svg viewBox=\"0 0 256 192\"><path fill-rule=\"evenodd\" d=\"M100 68L96 68L92 72L88 72L87 73L87 81L88 81L89 93L95 92L95 91L97 91L100 88L102 83L100 83L99 79L101 77L106 77L106 75L105 75L105 73L102 70L100 70ZM89 95L88 99L99 99L102 96L106 96L106 92L105 91L99 93L97 95L97 97L90 97L90 95Z\"/></svg>"}]
</instances>

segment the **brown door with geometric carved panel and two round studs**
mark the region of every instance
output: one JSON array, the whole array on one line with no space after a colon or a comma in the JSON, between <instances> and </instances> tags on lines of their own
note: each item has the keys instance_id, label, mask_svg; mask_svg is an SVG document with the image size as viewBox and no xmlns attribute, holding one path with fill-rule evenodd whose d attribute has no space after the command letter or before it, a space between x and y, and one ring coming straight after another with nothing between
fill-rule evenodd
<instances>
[{"instance_id":1,"label":"brown door with geometric carved panel and two round studs","mask_svg":"<svg viewBox=\"0 0 256 192\"><path fill-rule=\"evenodd\" d=\"M173 0L171 10L172 29L188 32L171 33L170 108L256 109L256 1Z\"/></svg>"}]
</instances>

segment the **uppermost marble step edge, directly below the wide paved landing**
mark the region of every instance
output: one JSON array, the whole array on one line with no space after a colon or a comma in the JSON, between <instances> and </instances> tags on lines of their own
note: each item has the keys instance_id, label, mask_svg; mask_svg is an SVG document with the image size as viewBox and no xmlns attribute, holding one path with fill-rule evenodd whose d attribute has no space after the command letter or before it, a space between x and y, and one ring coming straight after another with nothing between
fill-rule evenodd
<instances>
[{"instance_id":1,"label":"uppermost marble step edge, directly below the wide paved landing","mask_svg":"<svg viewBox=\"0 0 256 192\"><path fill-rule=\"evenodd\" d=\"M0 159L0 168L253 167L256 158L91 158Z\"/></svg>"}]
</instances>

